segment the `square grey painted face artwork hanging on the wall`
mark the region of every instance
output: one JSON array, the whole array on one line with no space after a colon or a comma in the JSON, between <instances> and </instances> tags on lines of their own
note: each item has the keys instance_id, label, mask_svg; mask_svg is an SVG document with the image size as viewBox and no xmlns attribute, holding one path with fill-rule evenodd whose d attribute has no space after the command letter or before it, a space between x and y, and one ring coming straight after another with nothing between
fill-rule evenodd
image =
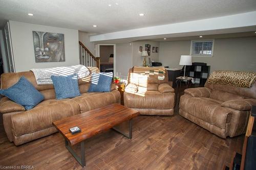
<instances>
[{"instance_id":1,"label":"square grey painted face artwork hanging on the wall","mask_svg":"<svg viewBox=\"0 0 256 170\"><path fill-rule=\"evenodd\" d=\"M65 61L64 34L33 31L35 62Z\"/></svg>"}]
</instances>

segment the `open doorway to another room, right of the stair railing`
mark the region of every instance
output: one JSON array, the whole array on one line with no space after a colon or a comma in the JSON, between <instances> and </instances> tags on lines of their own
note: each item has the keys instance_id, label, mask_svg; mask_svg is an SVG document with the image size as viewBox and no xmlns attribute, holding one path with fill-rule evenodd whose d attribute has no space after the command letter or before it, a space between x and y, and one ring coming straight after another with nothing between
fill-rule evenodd
<instances>
[{"instance_id":1,"label":"open doorway to another room, right of the stair railing","mask_svg":"<svg viewBox=\"0 0 256 170\"><path fill-rule=\"evenodd\" d=\"M113 72L115 75L116 44L98 44L100 57L100 72Z\"/></svg>"}]
</instances>

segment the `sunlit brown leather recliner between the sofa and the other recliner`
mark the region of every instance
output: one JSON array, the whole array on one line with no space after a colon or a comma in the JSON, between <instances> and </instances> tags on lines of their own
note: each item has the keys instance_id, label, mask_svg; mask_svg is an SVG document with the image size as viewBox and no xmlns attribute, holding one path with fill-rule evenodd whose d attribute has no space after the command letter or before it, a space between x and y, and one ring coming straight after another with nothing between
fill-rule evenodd
<instances>
[{"instance_id":1,"label":"sunlit brown leather recliner between the sofa and the other recliner","mask_svg":"<svg viewBox=\"0 0 256 170\"><path fill-rule=\"evenodd\" d=\"M168 84L168 72L164 80L148 77L137 80L133 68L129 69L128 82L124 89L124 106L136 109L142 115L173 115L175 92Z\"/></svg>"}]
</instances>

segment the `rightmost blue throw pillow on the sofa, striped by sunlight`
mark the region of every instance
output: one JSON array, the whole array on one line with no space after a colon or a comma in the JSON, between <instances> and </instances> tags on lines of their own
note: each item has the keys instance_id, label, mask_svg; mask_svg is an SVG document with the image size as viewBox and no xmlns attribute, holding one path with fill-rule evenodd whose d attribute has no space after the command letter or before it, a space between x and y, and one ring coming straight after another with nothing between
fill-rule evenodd
<instances>
[{"instance_id":1,"label":"rightmost blue throw pillow on the sofa, striped by sunlight","mask_svg":"<svg viewBox=\"0 0 256 170\"><path fill-rule=\"evenodd\" d=\"M88 92L108 92L111 89L113 72L93 73Z\"/></svg>"}]
</instances>

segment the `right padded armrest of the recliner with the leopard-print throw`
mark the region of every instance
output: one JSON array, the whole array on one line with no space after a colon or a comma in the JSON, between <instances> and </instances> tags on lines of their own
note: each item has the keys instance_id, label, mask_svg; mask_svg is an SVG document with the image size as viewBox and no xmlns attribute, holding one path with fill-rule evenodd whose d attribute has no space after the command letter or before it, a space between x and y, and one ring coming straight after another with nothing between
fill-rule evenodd
<instances>
[{"instance_id":1,"label":"right padded armrest of the recliner with the leopard-print throw","mask_svg":"<svg viewBox=\"0 0 256 170\"><path fill-rule=\"evenodd\" d=\"M229 100L229 101L223 102L221 106L229 107L236 110L251 110L252 105L247 100L238 99L238 100Z\"/></svg>"}]
</instances>

